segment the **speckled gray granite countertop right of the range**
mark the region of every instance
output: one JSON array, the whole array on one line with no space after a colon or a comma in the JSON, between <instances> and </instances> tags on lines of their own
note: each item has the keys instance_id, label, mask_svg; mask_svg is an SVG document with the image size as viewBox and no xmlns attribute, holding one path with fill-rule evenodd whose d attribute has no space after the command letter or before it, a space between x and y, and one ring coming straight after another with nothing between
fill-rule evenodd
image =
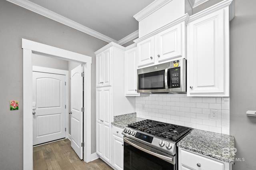
<instances>
[{"instance_id":1,"label":"speckled gray granite countertop right of the range","mask_svg":"<svg viewBox=\"0 0 256 170\"><path fill-rule=\"evenodd\" d=\"M177 146L234 164L234 140L234 136L193 129L178 142Z\"/></svg>"}]
</instances>

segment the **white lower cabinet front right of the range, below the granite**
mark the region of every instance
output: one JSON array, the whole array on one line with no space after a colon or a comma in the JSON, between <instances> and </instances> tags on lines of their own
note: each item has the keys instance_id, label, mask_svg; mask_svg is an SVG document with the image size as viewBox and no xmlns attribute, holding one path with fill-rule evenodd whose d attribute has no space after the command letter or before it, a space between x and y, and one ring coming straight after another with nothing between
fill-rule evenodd
<instances>
[{"instance_id":1,"label":"white lower cabinet front right of the range, below the granite","mask_svg":"<svg viewBox=\"0 0 256 170\"><path fill-rule=\"evenodd\" d=\"M202 154L178 148L179 170L231 170L231 165Z\"/></svg>"}]
</instances>

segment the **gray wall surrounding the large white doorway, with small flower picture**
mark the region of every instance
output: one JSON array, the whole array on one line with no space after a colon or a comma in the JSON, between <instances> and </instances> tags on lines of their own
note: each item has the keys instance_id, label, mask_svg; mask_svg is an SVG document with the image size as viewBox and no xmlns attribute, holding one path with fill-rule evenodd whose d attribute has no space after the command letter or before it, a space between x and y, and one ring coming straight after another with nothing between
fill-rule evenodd
<instances>
[{"instance_id":1,"label":"gray wall surrounding the large white doorway, with small flower picture","mask_svg":"<svg viewBox=\"0 0 256 170\"><path fill-rule=\"evenodd\" d=\"M92 115L95 115L95 55L102 40L35 14L6 0L0 0L0 166L3 170L23 167L23 87L21 39L92 56ZM10 100L20 109L10 111ZM92 128L95 129L95 120ZM95 133L92 133L95 141ZM92 140L93 141L93 140ZM92 152L95 152L95 145Z\"/></svg>"}]
</instances>

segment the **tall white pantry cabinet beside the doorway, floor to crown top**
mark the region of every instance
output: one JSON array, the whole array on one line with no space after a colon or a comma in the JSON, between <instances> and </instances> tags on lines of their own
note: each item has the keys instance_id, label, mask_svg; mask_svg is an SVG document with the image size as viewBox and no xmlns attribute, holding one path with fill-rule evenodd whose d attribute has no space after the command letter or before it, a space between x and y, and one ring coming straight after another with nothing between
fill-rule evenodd
<instances>
[{"instance_id":1,"label":"tall white pantry cabinet beside the doorway, floor to crown top","mask_svg":"<svg viewBox=\"0 0 256 170\"><path fill-rule=\"evenodd\" d=\"M112 163L114 116L135 112L135 97L124 94L125 47L109 43L96 54L96 153Z\"/></svg>"}]
</instances>

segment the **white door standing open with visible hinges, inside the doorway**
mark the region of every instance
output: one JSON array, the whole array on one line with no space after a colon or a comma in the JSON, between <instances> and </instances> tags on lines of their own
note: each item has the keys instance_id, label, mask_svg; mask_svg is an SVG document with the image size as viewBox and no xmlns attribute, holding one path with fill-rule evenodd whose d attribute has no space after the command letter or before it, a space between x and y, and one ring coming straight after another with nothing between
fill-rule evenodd
<instances>
[{"instance_id":1,"label":"white door standing open with visible hinges, inside the doorway","mask_svg":"<svg viewBox=\"0 0 256 170\"><path fill-rule=\"evenodd\" d=\"M83 159L83 66L71 70L71 147Z\"/></svg>"}]
</instances>

